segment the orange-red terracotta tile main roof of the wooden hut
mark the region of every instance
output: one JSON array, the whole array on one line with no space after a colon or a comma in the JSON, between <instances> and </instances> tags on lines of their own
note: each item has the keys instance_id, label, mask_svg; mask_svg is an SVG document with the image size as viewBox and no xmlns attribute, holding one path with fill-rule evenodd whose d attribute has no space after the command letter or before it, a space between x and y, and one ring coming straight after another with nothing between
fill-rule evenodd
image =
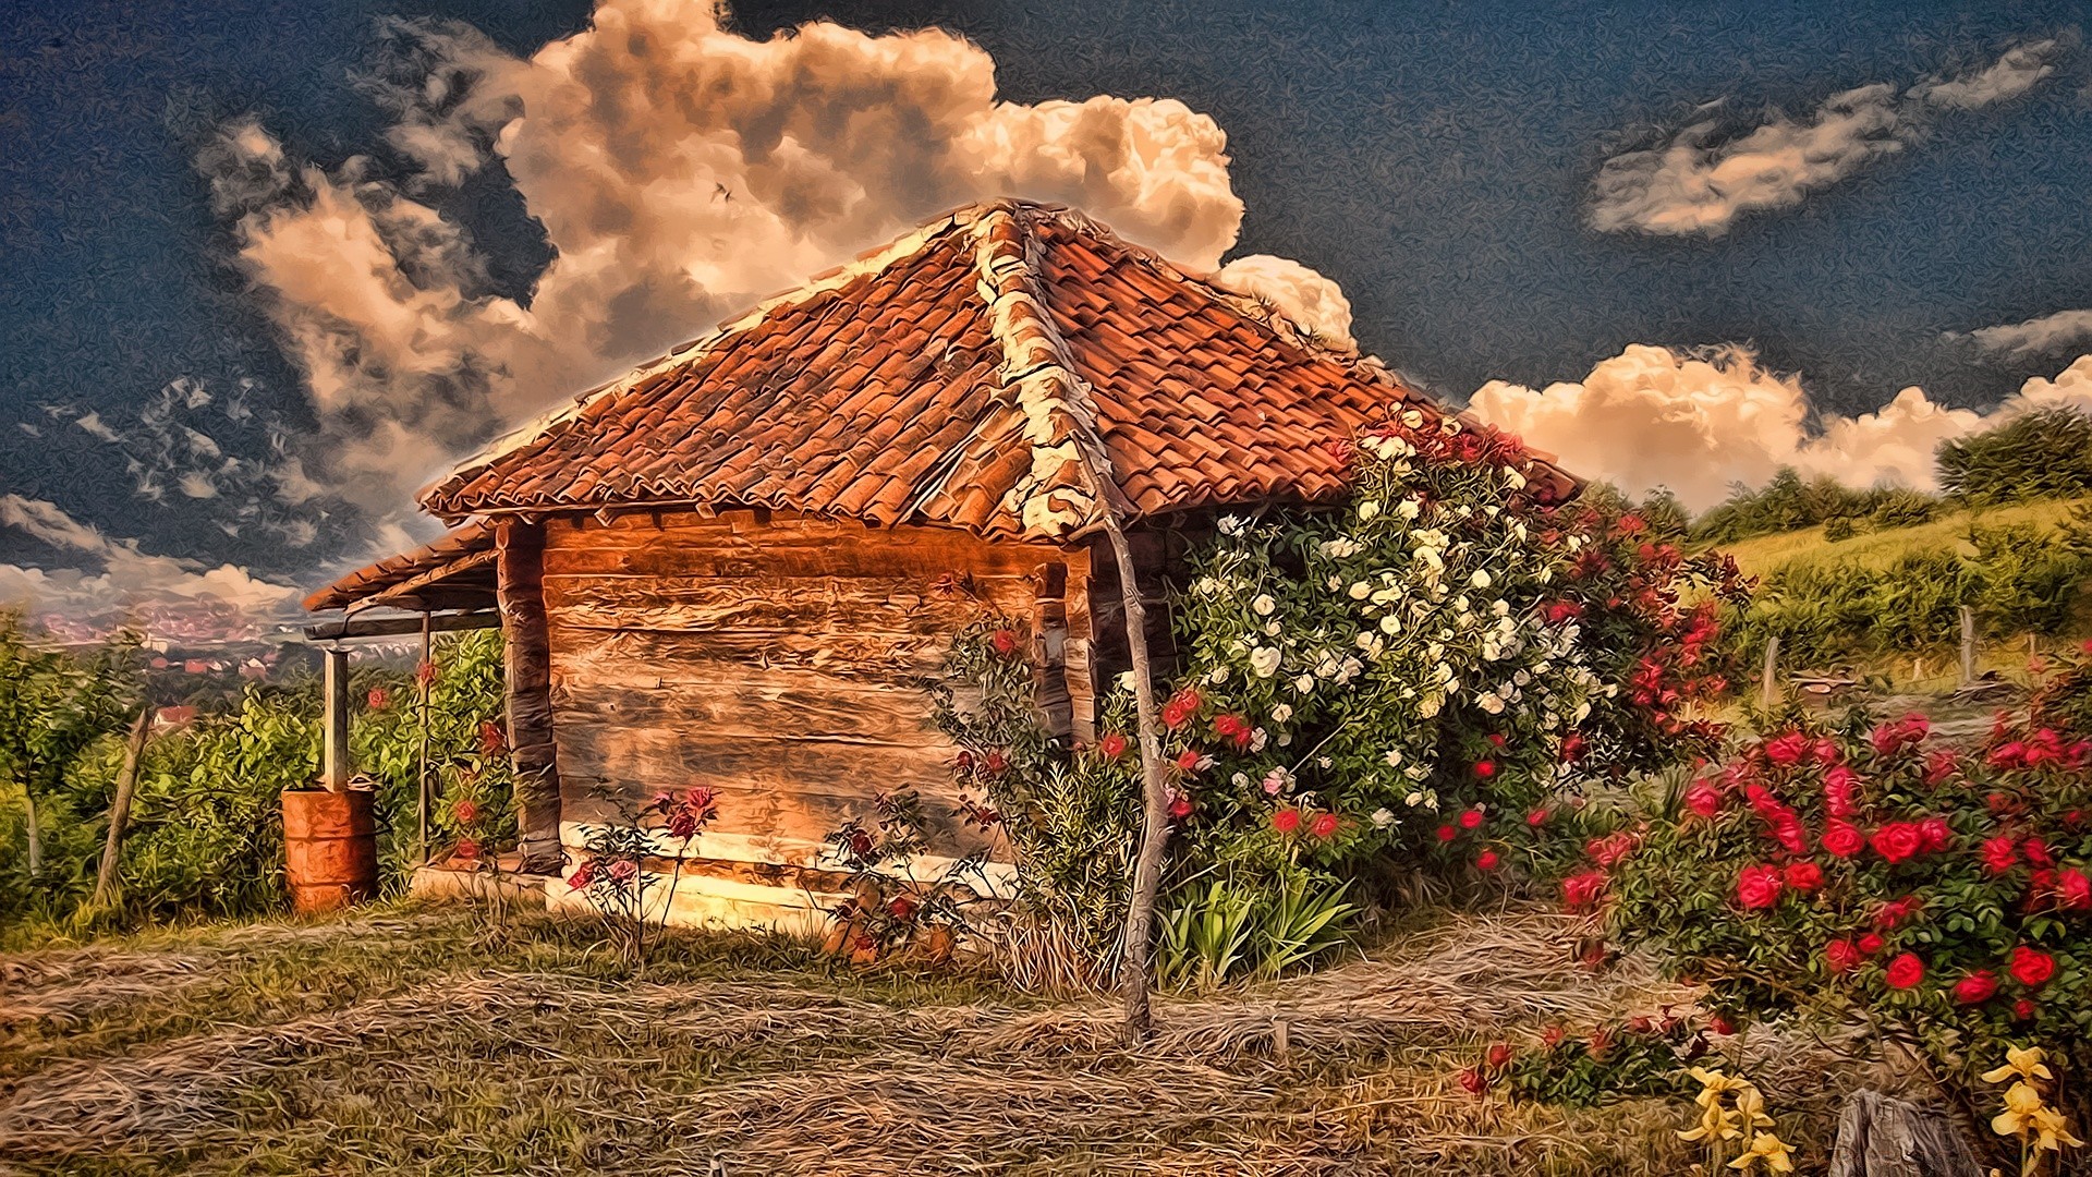
<instances>
[{"instance_id":1,"label":"orange-red terracotta tile main roof of the wooden hut","mask_svg":"<svg viewBox=\"0 0 2092 1177\"><path fill-rule=\"evenodd\" d=\"M1431 402L1082 214L973 205L496 442L446 517L640 503L1067 536L1343 488L1328 442ZM1540 475L1569 475L1540 463Z\"/></svg>"}]
</instances>

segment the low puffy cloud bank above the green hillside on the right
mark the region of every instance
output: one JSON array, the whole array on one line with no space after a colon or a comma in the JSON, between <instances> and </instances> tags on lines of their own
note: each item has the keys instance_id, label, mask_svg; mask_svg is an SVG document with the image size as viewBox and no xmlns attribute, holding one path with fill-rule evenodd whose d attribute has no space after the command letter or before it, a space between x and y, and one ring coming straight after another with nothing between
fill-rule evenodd
<instances>
[{"instance_id":1,"label":"low puffy cloud bank above the green hillside on the right","mask_svg":"<svg viewBox=\"0 0 2092 1177\"><path fill-rule=\"evenodd\" d=\"M1479 417L1556 454L1575 473L1632 494L1667 486L1692 511L1780 467L1847 486L1931 490L1939 442L2048 404L2092 410L2092 356L2052 381L2029 379L1989 413L1946 408L1925 390L1906 387L1874 413L1822 417L1799 377L1764 369L1745 348L1646 343L1600 360L1579 381L1542 390L1490 381L1471 402Z\"/></svg>"}]
</instances>

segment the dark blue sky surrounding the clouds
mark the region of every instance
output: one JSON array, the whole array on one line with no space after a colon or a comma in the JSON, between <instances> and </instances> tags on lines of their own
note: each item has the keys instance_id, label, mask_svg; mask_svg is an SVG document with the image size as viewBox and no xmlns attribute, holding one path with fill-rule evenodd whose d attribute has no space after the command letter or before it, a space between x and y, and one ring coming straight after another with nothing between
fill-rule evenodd
<instances>
[{"instance_id":1,"label":"dark blue sky surrounding the clouds","mask_svg":"<svg viewBox=\"0 0 2092 1177\"><path fill-rule=\"evenodd\" d=\"M305 377L230 264L232 216L197 155L251 117L295 163L368 157L366 176L410 184L383 142L391 115L358 84L393 15L462 21L513 54L590 21L588 4L498 0L54 4L8 21L0 494L280 578L372 542L370 505L331 494L326 454L301 450L324 434ZM2092 350L1994 356L1946 337L2092 308L2088 17L2063 2L862 2L738 4L732 27L937 25L994 57L1013 103L1167 96L1211 115L1245 207L1230 256L1335 279L1362 348L1443 396L1584 379L1628 343L1734 341L1851 415L1904 385L1994 404ZM1720 235L1592 226L1600 168L1623 151L1697 121L1741 136L1774 109L1805 121L1830 94L1906 92L2042 40L2056 46L2038 86L1912 119L1900 151L1799 203ZM548 235L500 165L416 199L469 230L487 291L527 299ZM285 492L299 454L320 486ZM184 469L211 494L184 492ZM75 549L0 526L0 561Z\"/></svg>"}]
</instances>

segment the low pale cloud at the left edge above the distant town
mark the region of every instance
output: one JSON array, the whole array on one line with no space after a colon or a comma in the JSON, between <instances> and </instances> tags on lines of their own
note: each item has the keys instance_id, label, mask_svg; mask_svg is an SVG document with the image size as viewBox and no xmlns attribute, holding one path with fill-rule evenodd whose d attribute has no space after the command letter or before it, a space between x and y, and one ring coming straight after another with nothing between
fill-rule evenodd
<instances>
[{"instance_id":1,"label":"low pale cloud at the left edge above the distant town","mask_svg":"<svg viewBox=\"0 0 2092 1177\"><path fill-rule=\"evenodd\" d=\"M109 538L52 503L0 494L0 528L65 551L90 568L44 570L0 563L0 607L23 609L63 632L105 632L132 624L159 639L257 637L272 628L297 588L232 563L149 555L138 540Z\"/></svg>"}]
</instances>

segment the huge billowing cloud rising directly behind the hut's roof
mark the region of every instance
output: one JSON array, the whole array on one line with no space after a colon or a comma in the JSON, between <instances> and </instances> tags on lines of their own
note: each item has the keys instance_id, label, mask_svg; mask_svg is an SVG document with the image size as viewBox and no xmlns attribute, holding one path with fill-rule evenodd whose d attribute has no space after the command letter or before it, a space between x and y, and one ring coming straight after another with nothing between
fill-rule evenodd
<instances>
[{"instance_id":1,"label":"huge billowing cloud rising directly behind the hut's roof","mask_svg":"<svg viewBox=\"0 0 2092 1177\"><path fill-rule=\"evenodd\" d=\"M967 201L1071 203L1201 272L1236 239L1226 134L1182 103L1004 103L994 61L939 29L755 42L724 17L605 0L527 59L464 25L391 23L374 88L418 168L404 184L299 163L255 121L201 153L310 381L310 473L383 515L504 423ZM494 159L554 251L527 299L494 293L433 207ZM1341 291L1305 266L1234 272L1347 337Z\"/></svg>"}]
</instances>

